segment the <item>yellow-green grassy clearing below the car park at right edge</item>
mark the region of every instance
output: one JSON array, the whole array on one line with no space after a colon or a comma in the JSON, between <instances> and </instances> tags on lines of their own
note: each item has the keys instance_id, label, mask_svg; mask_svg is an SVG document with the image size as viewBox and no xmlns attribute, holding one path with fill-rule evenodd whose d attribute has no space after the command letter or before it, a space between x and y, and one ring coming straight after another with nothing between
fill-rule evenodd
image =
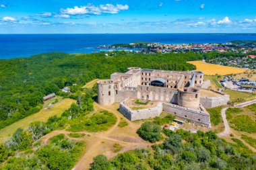
<instances>
[{"instance_id":1,"label":"yellow-green grassy clearing below the car park at right edge","mask_svg":"<svg viewBox=\"0 0 256 170\"><path fill-rule=\"evenodd\" d=\"M243 91L234 91L230 89L224 90L224 93L226 93L227 95L230 95L231 103L242 103L245 101L256 99L255 93L246 93Z\"/></svg>"}]
</instances>

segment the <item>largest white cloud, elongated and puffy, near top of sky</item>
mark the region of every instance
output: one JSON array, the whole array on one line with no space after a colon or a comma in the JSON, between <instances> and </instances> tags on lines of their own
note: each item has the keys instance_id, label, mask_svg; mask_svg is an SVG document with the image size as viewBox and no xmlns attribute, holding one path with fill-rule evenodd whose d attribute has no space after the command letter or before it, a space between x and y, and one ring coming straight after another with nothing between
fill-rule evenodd
<instances>
[{"instance_id":1,"label":"largest white cloud, elongated and puffy, near top of sky","mask_svg":"<svg viewBox=\"0 0 256 170\"><path fill-rule=\"evenodd\" d=\"M73 8L61 9L61 13L67 15L100 15L102 13L119 13L119 11L127 9L129 9L128 5L105 4L95 6L88 4L80 7L75 6Z\"/></svg>"}]
</instances>

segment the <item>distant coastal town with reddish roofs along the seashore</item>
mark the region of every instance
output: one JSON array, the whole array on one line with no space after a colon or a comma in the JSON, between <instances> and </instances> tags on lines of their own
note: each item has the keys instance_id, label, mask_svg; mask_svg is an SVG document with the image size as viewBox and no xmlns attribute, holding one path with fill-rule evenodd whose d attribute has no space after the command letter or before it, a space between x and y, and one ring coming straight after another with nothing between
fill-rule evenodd
<instances>
[{"instance_id":1,"label":"distant coastal town with reddish roofs along the seashore","mask_svg":"<svg viewBox=\"0 0 256 170\"><path fill-rule=\"evenodd\" d=\"M129 44L113 44L98 46L102 51L125 50L142 53L184 53L184 52L235 52L249 53L256 51L255 41L232 41L226 43L201 44L160 44L152 42L135 42Z\"/></svg>"}]
</instances>

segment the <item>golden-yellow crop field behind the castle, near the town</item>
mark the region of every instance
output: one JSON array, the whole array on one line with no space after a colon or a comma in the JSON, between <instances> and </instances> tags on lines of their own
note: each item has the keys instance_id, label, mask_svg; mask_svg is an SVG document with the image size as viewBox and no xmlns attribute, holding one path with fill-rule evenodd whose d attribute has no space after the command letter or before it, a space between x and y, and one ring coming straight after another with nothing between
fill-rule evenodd
<instances>
[{"instance_id":1,"label":"golden-yellow crop field behind the castle, near the town","mask_svg":"<svg viewBox=\"0 0 256 170\"><path fill-rule=\"evenodd\" d=\"M195 65L197 67L197 71L203 71L205 75L229 75L244 73L247 71L246 69L209 64L201 60L189 61L189 63Z\"/></svg>"}]
</instances>

